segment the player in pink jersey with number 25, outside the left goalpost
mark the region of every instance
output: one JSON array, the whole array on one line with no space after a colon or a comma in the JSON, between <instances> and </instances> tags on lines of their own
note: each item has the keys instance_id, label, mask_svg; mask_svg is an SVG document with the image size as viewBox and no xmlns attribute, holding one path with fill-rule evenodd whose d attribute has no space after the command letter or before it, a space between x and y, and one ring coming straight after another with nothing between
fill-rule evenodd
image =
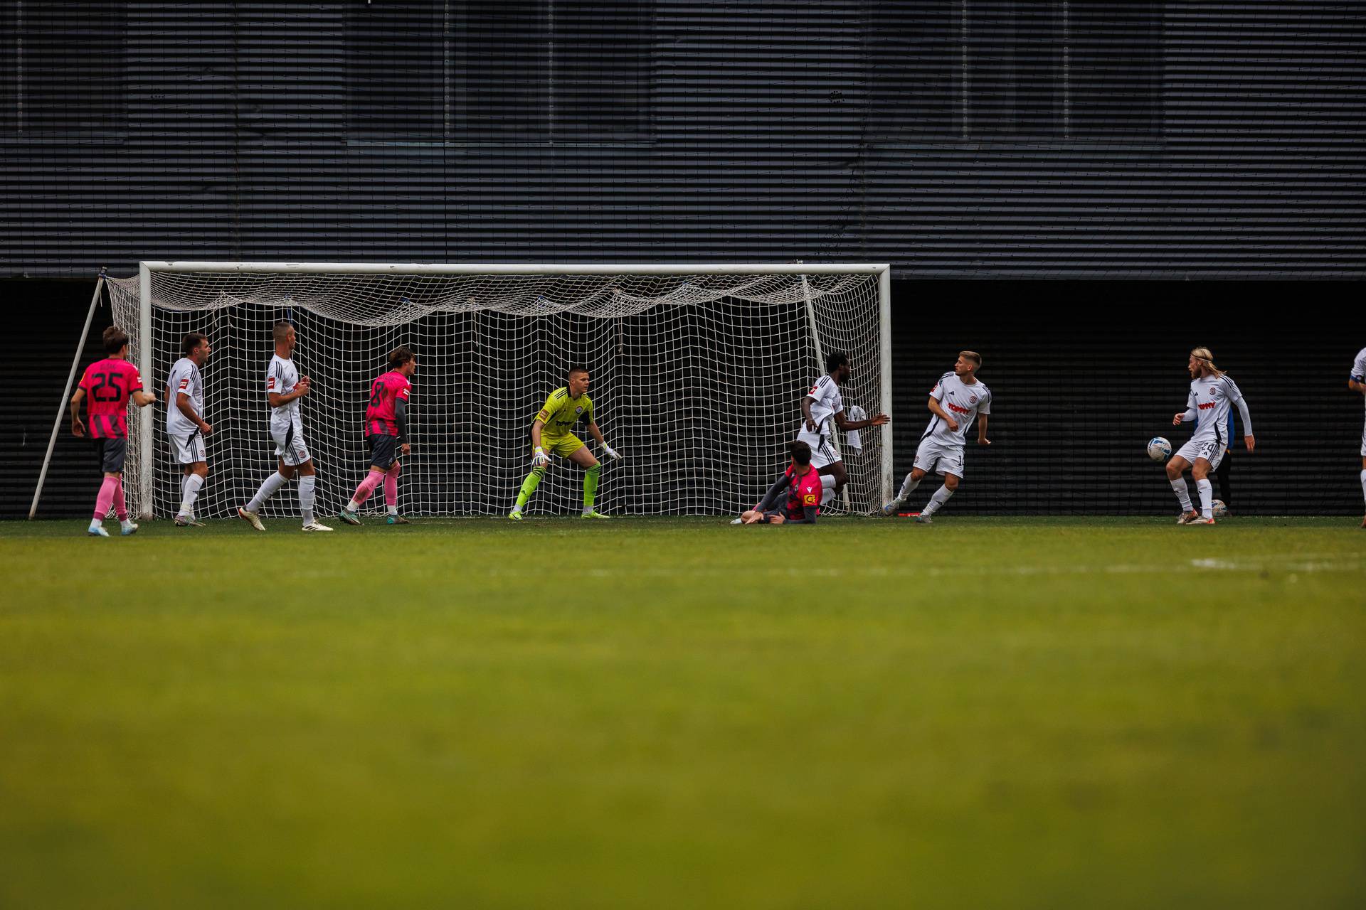
<instances>
[{"instance_id":1,"label":"player in pink jersey with number 25, outside the left goalpost","mask_svg":"<svg viewBox=\"0 0 1366 910\"><path fill-rule=\"evenodd\" d=\"M94 501L94 517L86 531L93 538L108 538L104 517L113 506L119 516L123 535L138 529L128 518L128 505L123 498L123 460L128 454L128 401L145 408L157 400L150 392L142 390L142 377L138 368L128 363L128 336L119 326L104 330L104 360L86 367L81 385L71 396L71 434L85 437L86 427L81 423L81 402L86 402L86 417L90 420L90 439L94 442L100 467L104 469L104 483ZM89 398L89 401L86 401Z\"/></svg>"}]
</instances>

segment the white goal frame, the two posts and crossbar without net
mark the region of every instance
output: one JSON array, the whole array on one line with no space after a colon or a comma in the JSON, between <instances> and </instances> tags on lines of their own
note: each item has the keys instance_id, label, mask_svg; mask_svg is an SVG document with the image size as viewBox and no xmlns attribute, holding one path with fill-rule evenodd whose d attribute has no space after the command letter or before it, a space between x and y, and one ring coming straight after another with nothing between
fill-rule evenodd
<instances>
[{"instance_id":1,"label":"white goal frame, the two posts and crossbar without net","mask_svg":"<svg viewBox=\"0 0 1366 910\"><path fill-rule=\"evenodd\" d=\"M872 274L877 276L878 299L878 363L881 381L878 396L881 407L892 407L892 266L891 263L631 263L631 265L576 265L576 263L362 263L362 262L191 262L154 261L138 263L138 319L139 340L152 337L152 273L153 271L216 271L216 273L299 273L299 274L471 274L471 276L545 276L545 274L641 274L641 276L686 276L686 274ZM811 318L813 338L814 312L811 302L806 300ZM820 349L820 348L817 348ZM150 377L153 370L152 345L141 344L138 349L138 370ZM150 465L154 457L153 409L138 411L138 450L142 464ZM892 495L892 426L881 427L881 464L878 465L882 499ZM152 483L139 484L138 513L142 517L153 514Z\"/></svg>"}]
</instances>

